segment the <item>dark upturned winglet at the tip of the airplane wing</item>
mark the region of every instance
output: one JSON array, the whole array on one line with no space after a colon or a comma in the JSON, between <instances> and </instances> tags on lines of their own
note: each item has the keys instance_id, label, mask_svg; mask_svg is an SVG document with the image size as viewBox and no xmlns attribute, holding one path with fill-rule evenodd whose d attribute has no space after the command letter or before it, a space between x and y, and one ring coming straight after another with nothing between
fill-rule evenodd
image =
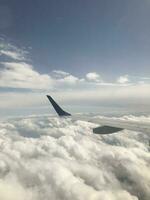
<instances>
[{"instance_id":1,"label":"dark upturned winglet at the tip of the airplane wing","mask_svg":"<svg viewBox=\"0 0 150 200\"><path fill-rule=\"evenodd\" d=\"M65 111L54 101L54 99L53 99L51 96L49 96L49 95L46 95L46 96L47 96L48 100L50 101L50 103L52 104L52 106L54 107L55 111L57 112L57 114L58 114L59 116L61 116L61 117L62 117L62 116L71 116L71 114L65 112Z\"/></svg>"}]
</instances>

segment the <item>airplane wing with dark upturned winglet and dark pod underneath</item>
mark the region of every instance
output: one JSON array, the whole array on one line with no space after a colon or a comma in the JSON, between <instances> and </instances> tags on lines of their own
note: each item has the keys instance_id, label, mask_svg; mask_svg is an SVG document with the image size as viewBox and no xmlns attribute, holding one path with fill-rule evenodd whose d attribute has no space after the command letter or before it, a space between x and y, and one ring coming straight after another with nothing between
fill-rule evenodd
<instances>
[{"instance_id":1,"label":"airplane wing with dark upturned winglet and dark pod underneath","mask_svg":"<svg viewBox=\"0 0 150 200\"><path fill-rule=\"evenodd\" d=\"M150 134L150 123L148 122L135 122L135 121L112 119L108 117L99 117L99 116L91 117L86 115L71 115L70 113L64 111L50 95L46 96L59 117L63 118L69 117L73 120L82 120L100 124L100 126L93 129L94 134L101 134L101 135L112 134L120 132L124 129Z\"/></svg>"}]
</instances>

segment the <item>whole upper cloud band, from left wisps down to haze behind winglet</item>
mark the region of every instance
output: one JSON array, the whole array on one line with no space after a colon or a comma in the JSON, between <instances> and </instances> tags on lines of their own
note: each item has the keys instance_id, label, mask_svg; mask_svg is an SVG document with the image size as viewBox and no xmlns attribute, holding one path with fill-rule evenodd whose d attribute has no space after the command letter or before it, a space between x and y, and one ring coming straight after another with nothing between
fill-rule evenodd
<instances>
[{"instance_id":1,"label":"whole upper cloud band, from left wisps down to haze behind winglet","mask_svg":"<svg viewBox=\"0 0 150 200\"><path fill-rule=\"evenodd\" d=\"M21 105L24 109L33 105L44 107L46 102L43 97L47 93L61 99L67 105L132 105L134 108L141 104L149 105L148 77L144 79L145 77L123 75L117 82L106 82L97 72L89 72L81 77L62 70L40 73L29 63L28 53L11 43L6 43L5 40L1 42L0 54L9 58L8 61L7 58L3 60L2 56L0 63L1 109L17 110Z\"/></svg>"}]
</instances>

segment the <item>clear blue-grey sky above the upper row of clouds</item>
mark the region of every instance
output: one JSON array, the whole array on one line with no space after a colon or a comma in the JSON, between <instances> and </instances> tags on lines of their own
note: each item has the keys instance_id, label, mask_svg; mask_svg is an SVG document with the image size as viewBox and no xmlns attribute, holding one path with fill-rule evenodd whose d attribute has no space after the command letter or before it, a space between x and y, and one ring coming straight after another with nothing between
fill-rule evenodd
<instances>
[{"instance_id":1,"label":"clear blue-grey sky above the upper row of clouds","mask_svg":"<svg viewBox=\"0 0 150 200\"><path fill-rule=\"evenodd\" d=\"M150 73L148 0L6 0L1 9L1 33L31 46L41 72Z\"/></svg>"}]
</instances>

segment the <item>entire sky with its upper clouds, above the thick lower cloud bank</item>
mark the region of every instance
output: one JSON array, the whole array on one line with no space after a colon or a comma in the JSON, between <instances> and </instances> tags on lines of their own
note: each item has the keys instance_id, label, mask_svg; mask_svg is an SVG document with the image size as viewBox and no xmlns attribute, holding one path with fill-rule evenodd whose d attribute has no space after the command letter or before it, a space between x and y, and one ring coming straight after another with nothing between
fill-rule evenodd
<instances>
[{"instance_id":1,"label":"entire sky with its upper clouds, above the thick lower cloud bank","mask_svg":"<svg viewBox=\"0 0 150 200\"><path fill-rule=\"evenodd\" d=\"M149 112L149 10L149 0L1 1L1 115L46 112L47 93L71 111Z\"/></svg>"}]
</instances>

